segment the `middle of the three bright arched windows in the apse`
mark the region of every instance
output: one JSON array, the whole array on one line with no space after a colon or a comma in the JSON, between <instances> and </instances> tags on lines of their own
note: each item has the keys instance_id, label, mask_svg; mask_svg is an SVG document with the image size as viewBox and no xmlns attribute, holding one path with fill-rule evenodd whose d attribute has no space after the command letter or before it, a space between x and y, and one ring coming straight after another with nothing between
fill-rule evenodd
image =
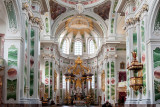
<instances>
[{"instance_id":1,"label":"middle of the three bright arched windows in the apse","mask_svg":"<svg viewBox=\"0 0 160 107\"><path fill-rule=\"evenodd\" d=\"M75 55L82 55L82 42L81 41L75 42L74 54Z\"/></svg>"}]
</instances>

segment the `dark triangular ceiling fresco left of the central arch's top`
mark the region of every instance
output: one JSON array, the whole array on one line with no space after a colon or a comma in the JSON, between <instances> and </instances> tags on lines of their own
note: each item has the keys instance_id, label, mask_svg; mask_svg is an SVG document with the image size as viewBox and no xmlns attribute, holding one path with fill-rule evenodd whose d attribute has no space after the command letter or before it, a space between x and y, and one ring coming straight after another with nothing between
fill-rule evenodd
<instances>
[{"instance_id":1,"label":"dark triangular ceiling fresco left of the central arch's top","mask_svg":"<svg viewBox=\"0 0 160 107\"><path fill-rule=\"evenodd\" d=\"M58 3L50 0L50 12L51 12L51 18L55 20L60 14L66 12L66 8L59 5Z\"/></svg>"}]
</instances>

